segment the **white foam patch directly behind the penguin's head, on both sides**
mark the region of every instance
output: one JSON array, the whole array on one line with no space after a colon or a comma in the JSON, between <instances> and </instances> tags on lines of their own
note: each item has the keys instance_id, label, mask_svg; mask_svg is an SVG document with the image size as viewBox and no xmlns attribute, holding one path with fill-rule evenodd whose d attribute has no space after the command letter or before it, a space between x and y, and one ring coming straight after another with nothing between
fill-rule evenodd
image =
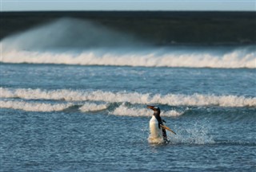
<instances>
[{"instance_id":1,"label":"white foam patch directly behind the penguin's head, on both sides","mask_svg":"<svg viewBox=\"0 0 256 172\"><path fill-rule=\"evenodd\" d=\"M110 112L113 115L126 115L126 116L152 116L152 111L146 108L128 108L126 105L122 104L118 108L114 109L114 111ZM182 115L182 112L178 111L162 111L162 116L178 116Z\"/></svg>"}]
</instances>

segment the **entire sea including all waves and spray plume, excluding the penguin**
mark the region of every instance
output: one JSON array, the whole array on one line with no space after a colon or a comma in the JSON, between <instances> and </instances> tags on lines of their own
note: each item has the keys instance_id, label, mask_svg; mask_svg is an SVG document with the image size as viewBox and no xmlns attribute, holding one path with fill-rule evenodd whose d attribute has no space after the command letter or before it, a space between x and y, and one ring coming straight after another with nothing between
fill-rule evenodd
<instances>
[{"instance_id":1,"label":"entire sea including all waves and spray plume, excluding the penguin","mask_svg":"<svg viewBox=\"0 0 256 172\"><path fill-rule=\"evenodd\" d=\"M153 46L62 18L1 46L1 171L256 170L255 45ZM148 142L147 104L170 143Z\"/></svg>"}]
</instances>

